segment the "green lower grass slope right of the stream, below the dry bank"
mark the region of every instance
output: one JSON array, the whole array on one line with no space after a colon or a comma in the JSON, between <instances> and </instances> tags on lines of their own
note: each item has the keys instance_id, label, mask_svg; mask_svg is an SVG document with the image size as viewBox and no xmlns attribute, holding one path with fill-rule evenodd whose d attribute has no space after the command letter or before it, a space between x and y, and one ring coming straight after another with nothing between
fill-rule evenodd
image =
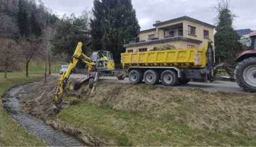
<instances>
[{"instance_id":1,"label":"green lower grass slope right of the stream, below the dry bank","mask_svg":"<svg viewBox=\"0 0 256 147\"><path fill-rule=\"evenodd\" d=\"M256 146L255 140L244 136L191 129L172 118L154 119L85 102L64 109L57 117L118 146Z\"/></svg>"}]
</instances>

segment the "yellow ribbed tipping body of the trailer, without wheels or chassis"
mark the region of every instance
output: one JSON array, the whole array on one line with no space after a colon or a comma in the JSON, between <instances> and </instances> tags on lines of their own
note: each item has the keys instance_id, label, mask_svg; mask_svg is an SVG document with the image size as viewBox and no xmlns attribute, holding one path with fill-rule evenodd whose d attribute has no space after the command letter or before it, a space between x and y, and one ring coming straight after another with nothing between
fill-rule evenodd
<instances>
[{"instance_id":1,"label":"yellow ribbed tipping body of the trailer, without wheels or chassis","mask_svg":"<svg viewBox=\"0 0 256 147\"><path fill-rule=\"evenodd\" d=\"M207 49L173 49L166 51L147 51L123 53L122 64L133 66L175 66L178 68L204 68L207 63Z\"/></svg>"}]
</instances>

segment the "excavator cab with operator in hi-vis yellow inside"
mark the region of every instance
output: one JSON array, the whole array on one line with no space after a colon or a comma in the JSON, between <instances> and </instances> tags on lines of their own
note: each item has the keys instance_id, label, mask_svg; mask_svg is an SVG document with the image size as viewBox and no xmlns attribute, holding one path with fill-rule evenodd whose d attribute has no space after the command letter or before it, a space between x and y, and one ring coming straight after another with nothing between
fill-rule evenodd
<instances>
[{"instance_id":1,"label":"excavator cab with operator in hi-vis yellow inside","mask_svg":"<svg viewBox=\"0 0 256 147\"><path fill-rule=\"evenodd\" d=\"M110 51L94 51L91 60L97 63L97 70L102 76L112 74L115 69L115 62Z\"/></svg>"}]
</instances>

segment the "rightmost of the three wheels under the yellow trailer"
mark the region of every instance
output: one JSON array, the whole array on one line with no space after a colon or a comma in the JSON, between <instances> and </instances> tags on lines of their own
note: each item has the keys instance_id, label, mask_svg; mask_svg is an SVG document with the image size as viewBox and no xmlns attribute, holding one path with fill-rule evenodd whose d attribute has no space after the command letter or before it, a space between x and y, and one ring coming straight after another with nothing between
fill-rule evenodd
<instances>
[{"instance_id":1,"label":"rightmost of the three wheels under the yellow trailer","mask_svg":"<svg viewBox=\"0 0 256 147\"><path fill-rule=\"evenodd\" d=\"M176 86L178 84L178 76L172 70L165 70L161 74L161 82L164 86Z\"/></svg>"}]
</instances>

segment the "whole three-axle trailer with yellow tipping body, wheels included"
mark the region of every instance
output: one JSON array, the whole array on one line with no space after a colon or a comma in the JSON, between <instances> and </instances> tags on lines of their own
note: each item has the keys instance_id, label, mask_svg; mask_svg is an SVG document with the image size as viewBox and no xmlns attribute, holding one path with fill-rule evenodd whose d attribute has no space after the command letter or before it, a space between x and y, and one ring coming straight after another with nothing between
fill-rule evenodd
<instances>
[{"instance_id":1,"label":"whole three-axle trailer with yellow tipping body, wheels included","mask_svg":"<svg viewBox=\"0 0 256 147\"><path fill-rule=\"evenodd\" d=\"M122 53L121 61L132 84L144 80L147 84L161 81L165 86L176 86L190 80L211 80L214 50L209 43L205 49Z\"/></svg>"}]
</instances>

